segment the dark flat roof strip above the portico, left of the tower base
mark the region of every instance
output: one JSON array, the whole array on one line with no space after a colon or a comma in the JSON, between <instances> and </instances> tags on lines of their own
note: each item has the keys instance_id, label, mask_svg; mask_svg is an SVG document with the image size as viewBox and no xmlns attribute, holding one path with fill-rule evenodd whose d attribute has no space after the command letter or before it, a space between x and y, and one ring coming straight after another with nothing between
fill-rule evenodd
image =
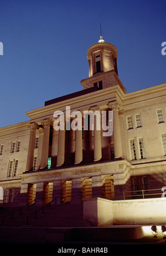
<instances>
[{"instance_id":1,"label":"dark flat roof strip above the portico, left of the tower base","mask_svg":"<svg viewBox=\"0 0 166 256\"><path fill-rule=\"evenodd\" d=\"M79 97L81 95L85 95L87 93L91 93L91 92L94 92L94 91L97 91L97 90L98 90L98 87L94 86L94 87L87 88L87 89L82 90L82 91L73 92L73 93L70 93L68 95L55 98L53 100L45 101L45 105L44 106L48 106L48 105L51 105L51 104L54 104L54 103L57 103L57 102L60 102L60 101L69 100L69 99L72 99L72 98L75 98L75 97Z\"/></svg>"}]
</instances>

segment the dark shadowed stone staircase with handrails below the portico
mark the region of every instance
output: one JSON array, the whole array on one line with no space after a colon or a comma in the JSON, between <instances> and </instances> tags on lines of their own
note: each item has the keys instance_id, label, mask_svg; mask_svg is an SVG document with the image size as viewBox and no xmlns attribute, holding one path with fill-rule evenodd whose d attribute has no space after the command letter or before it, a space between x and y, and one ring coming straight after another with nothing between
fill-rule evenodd
<instances>
[{"instance_id":1,"label":"dark shadowed stone staircase with handrails below the portico","mask_svg":"<svg viewBox=\"0 0 166 256\"><path fill-rule=\"evenodd\" d=\"M19 211L14 213L13 219L11 219L11 215L7 216L4 218L3 227L25 227L27 216L40 208L41 206L32 206L29 210L22 209L22 214L19 215ZM7 212L9 212L8 209L3 209L3 214L2 212L0 214L0 221L4 213ZM33 227L87 227L87 225L89 224L83 220L83 206L81 204L51 205L50 209L49 206L46 206L44 213L42 213L42 209L37 212L36 219L35 214L28 218L28 226Z\"/></svg>"}]
</instances>

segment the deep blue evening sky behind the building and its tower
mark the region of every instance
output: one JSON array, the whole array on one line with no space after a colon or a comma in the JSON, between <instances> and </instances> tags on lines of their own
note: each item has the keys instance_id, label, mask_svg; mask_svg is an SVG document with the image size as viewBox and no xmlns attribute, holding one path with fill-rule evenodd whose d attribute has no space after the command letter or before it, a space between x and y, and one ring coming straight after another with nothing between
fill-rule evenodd
<instances>
[{"instance_id":1,"label":"deep blue evening sky behind the building and its tower","mask_svg":"<svg viewBox=\"0 0 166 256\"><path fill-rule=\"evenodd\" d=\"M0 127L26 111L82 90L86 52L102 36L118 50L127 92L166 82L166 2L161 0L0 0Z\"/></svg>"}]
</instances>

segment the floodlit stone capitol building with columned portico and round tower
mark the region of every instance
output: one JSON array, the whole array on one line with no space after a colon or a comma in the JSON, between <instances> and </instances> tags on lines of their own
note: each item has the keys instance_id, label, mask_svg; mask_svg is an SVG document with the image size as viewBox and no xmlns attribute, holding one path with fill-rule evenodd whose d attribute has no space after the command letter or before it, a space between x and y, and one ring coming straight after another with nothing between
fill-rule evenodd
<instances>
[{"instance_id":1,"label":"floodlit stone capitol building with columned portico and round tower","mask_svg":"<svg viewBox=\"0 0 166 256\"><path fill-rule=\"evenodd\" d=\"M89 77L81 81L82 91L46 101L27 112L30 121L0 129L1 203L161 197L166 84L126 93L118 77L117 49L102 38L89 48L87 59ZM113 111L113 135L102 136L96 125L94 130L56 131L54 112L66 117L66 106Z\"/></svg>"}]
</instances>

